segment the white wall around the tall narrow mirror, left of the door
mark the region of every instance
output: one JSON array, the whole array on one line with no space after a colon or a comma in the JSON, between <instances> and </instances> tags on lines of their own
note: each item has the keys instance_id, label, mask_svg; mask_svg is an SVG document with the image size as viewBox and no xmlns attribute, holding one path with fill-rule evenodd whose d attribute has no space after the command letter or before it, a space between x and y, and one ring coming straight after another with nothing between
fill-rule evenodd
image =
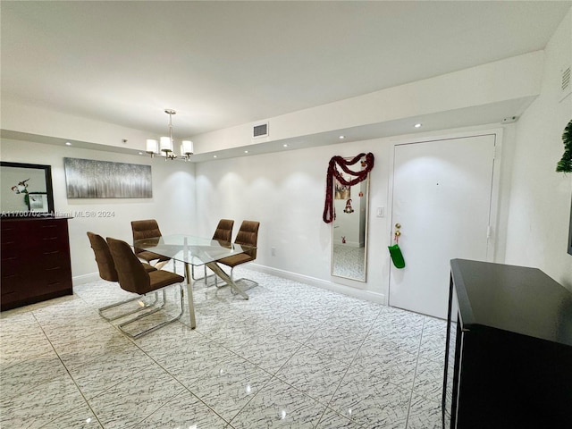
<instances>
[{"instance_id":1,"label":"white wall around the tall narrow mirror, left of the door","mask_svg":"<svg viewBox=\"0 0 572 429\"><path fill-rule=\"evenodd\" d=\"M369 299L383 300L389 269L384 248L387 218L370 220L369 281L363 283L330 275L332 226L324 223L322 214L330 158L353 157L360 152L375 156L370 206L387 207L390 151L388 140L374 139L198 164L198 228L214 231L219 218L231 218L236 235L242 220L257 220L261 223L257 265L336 290L344 289L340 283L350 285L363 290ZM276 248L275 257L272 247Z\"/></svg>"}]
</instances>

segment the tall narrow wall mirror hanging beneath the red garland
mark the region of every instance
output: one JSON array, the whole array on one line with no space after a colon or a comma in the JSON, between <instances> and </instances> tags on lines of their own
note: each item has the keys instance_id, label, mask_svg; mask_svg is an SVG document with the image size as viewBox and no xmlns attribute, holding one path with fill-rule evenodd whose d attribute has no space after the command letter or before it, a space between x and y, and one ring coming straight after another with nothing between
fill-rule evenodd
<instances>
[{"instance_id":1,"label":"tall narrow wall mirror hanging beneath the red garland","mask_svg":"<svg viewBox=\"0 0 572 429\"><path fill-rule=\"evenodd\" d=\"M366 282L369 173L364 181L346 187L334 181L332 275Z\"/></svg>"}]
</instances>

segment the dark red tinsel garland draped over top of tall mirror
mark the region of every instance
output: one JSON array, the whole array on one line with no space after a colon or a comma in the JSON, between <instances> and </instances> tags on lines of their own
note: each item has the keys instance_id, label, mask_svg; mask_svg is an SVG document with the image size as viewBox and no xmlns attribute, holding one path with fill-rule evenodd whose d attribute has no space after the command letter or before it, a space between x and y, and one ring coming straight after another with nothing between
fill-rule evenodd
<instances>
[{"instance_id":1,"label":"dark red tinsel garland draped over top of tall mirror","mask_svg":"<svg viewBox=\"0 0 572 429\"><path fill-rule=\"evenodd\" d=\"M366 156L366 161L362 162L363 170L359 172L352 172L349 170L348 165L357 164L361 158ZM346 172L350 176L355 176L354 179L350 179L347 181L341 172L339 172L336 168L338 165L343 172ZM325 205L324 205L324 214L322 218L324 219L325 223L332 223L336 217L336 214L333 209L333 178L335 177L342 185L345 186L353 186L360 181L365 181L367 177L367 173L371 172L374 168L374 154L371 152L366 154L359 154L358 156L346 160L341 156L332 156L330 163L328 164L328 172L325 176Z\"/></svg>"}]
</instances>

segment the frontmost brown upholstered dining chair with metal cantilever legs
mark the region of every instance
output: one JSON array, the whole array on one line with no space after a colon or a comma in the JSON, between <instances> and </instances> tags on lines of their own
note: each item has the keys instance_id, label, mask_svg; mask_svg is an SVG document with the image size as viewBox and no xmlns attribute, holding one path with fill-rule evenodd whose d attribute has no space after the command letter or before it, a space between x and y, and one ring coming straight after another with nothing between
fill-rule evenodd
<instances>
[{"instance_id":1,"label":"frontmost brown upholstered dining chair with metal cantilever legs","mask_svg":"<svg viewBox=\"0 0 572 429\"><path fill-rule=\"evenodd\" d=\"M155 292L156 290L161 290L163 292L163 305L160 307L154 307L152 310L147 311L145 314L138 315L127 322L119 325L119 329L125 332L131 338L139 338L148 332L153 332L156 329L163 327L166 324L171 324L181 318L183 313L183 290L182 282L184 277L179 274L171 273L169 271L155 270L147 273L143 265L141 265L139 258L135 256L133 250L131 250L130 245L125 241L116 240L112 238L107 238L107 244L111 251L112 257L114 258L115 269L117 270L117 275L119 277L119 285L123 290L128 292L137 293L139 296L146 295L150 292ZM171 286L172 284L179 284L179 294L181 297L181 312L179 315L172 317L160 324L155 324L146 330L132 334L123 329L124 326L132 324L147 315L152 315L157 311L161 310L166 304L165 288Z\"/></svg>"}]
</instances>

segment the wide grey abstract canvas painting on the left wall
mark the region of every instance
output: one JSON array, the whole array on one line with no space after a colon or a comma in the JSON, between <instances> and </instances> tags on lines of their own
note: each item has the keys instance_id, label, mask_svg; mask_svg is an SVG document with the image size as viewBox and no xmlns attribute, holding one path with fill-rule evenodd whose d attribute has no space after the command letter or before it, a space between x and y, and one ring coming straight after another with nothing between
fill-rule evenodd
<instances>
[{"instance_id":1,"label":"wide grey abstract canvas painting on the left wall","mask_svg":"<svg viewBox=\"0 0 572 429\"><path fill-rule=\"evenodd\" d=\"M63 158L68 198L153 198L151 166Z\"/></svg>"}]
</instances>

